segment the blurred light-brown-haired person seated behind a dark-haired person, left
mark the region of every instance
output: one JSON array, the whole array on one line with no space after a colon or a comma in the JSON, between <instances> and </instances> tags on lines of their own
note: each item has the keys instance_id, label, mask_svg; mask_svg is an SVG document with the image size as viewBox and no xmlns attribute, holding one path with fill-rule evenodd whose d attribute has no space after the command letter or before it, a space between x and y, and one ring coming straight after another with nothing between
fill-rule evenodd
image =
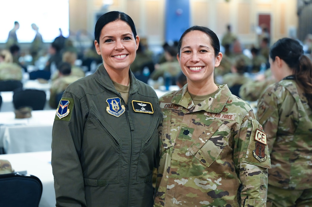
<instances>
[{"instance_id":1,"label":"blurred light-brown-haired person seated behind a dark-haired person, left","mask_svg":"<svg viewBox=\"0 0 312 207\"><path fill-rule=\"evenodd\" d=\"M77 60L77 53L74 51L66 51L62 55L62 62L66 62L71 64L71 75L77 76L80 78L85 77L85 72L83 69L77 65L75 65ZM56 71L52 74L51 80L54 80L58 77L59 72Z\"/></svg>"}]
</instances>

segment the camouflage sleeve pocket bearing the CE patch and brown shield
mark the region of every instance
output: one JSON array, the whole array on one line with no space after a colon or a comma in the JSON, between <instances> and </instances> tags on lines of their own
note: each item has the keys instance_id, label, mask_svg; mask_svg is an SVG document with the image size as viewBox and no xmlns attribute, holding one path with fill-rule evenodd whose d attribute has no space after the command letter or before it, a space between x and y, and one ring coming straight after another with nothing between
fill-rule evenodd
<instances>
[{"instance_id":1,"label":"camouflage sleeve pocket bearing the CE patch and brown shield","mask_svg":"<svg viewBox=\"0 0 312 207\"><path fill-rule=\"evenodd\" d=\"M249 138L249 140L248 140ZM262 125L249 118L243 162L259 167L271 168L271 158Z\"/></svg>"}]
</instances>

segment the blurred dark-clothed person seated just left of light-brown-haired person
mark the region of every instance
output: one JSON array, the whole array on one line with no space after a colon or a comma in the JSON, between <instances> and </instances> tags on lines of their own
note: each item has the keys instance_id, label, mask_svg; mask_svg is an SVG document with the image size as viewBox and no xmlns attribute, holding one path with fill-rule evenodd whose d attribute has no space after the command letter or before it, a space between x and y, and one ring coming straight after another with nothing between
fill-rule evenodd
<instances>
[{"instance_id":1,"label":"blurred dark-clothed person seated just left of light-brown-haired person","mask_svg":"<svg viewBox=\"0 0 312 207\"><path fill-rule=\"evenodd\" d=\"M49 59L46 62L44 70L55 73L57 66L62 62L62 54L60 46L54 41L51 43L49 48Z\"/></svg>"}]
</instances>

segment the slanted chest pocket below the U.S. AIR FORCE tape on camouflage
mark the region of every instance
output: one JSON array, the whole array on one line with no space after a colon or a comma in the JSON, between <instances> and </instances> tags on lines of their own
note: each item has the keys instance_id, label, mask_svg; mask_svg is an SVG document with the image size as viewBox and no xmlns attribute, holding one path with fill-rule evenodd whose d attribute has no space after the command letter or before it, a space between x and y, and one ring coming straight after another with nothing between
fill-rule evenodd
<instances>
[{"instance_id":1,"label":"slanted chest pocket below the U.S. AIR FORCE tape on camouflage","mask_svg":"<svg viewBox=\"0 0 312 207\"><path fill-rule=\"evenodd\" d=\"M231 130L215 119L190 147L190 153L209 167L227 146Z\"/></svg>"}]
</instances>

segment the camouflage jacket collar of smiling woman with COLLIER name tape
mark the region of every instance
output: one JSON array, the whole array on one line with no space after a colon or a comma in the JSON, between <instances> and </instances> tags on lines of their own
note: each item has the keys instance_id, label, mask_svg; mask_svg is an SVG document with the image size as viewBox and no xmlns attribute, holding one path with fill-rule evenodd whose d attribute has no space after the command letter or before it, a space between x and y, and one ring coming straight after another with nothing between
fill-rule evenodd
<instances>
[{"instance_id":1,"label":"camouflage jacket collar of smiling woman with COLLIER name tape","mask_svg":"<svg viewBox=\"0 0 312 207\"><path fill-rule=\"evenodd\" d=\"M225 104L230 101L229 98L232 93L227 85L217 86L220 87L221 90L217 92L214 97L210 97L195 106L188 93L188 84L186 84L173 95L171 102L189 109L190 112L204 110L210 113L220 113Z\"/></svg>"}]
</instances>

